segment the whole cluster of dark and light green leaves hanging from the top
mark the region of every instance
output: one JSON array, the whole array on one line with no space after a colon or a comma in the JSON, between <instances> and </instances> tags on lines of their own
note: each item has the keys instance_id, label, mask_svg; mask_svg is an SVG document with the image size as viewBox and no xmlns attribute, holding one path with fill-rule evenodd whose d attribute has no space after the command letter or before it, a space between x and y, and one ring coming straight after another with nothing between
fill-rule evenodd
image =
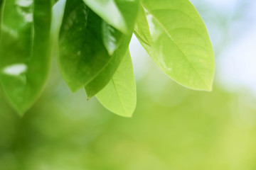
<instances>
[{"instance_id":1,"label":"whole cluster of dark and light green leaves hanging from the top","mask_svg":"<svg viewBox=\"0 0 256 170\"><path fill-rule=\"evenodd\" d=\"M52 50L75 92L131 116L136 85L129 55L134 33L157 66L179 84L210 91L213 48L188 0L0 0L0 80L21 115L41 94ZM55 46L54 44L57 44Z\"/></svg>"}]
</instances>

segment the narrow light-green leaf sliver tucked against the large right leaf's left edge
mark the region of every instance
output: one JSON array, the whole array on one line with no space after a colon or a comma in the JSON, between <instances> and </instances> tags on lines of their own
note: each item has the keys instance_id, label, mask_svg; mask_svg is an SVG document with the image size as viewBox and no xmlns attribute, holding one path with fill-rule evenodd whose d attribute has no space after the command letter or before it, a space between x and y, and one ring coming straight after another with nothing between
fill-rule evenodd
<instances>
[{"instance_id":1,"label":"narrow light-green leaf sliver tucked against the large right leaf's left edge","mask_svg":"<svg viewBox=\"0 0 256 170\"><path fill-rule=\"evenodd\" d=\"M149 31L149 23L146 20L146 13L141 4L139 4L139 13L135 23L134 34L140 41L151 46L152 40Z\"/></svg>"}]
</instances>

